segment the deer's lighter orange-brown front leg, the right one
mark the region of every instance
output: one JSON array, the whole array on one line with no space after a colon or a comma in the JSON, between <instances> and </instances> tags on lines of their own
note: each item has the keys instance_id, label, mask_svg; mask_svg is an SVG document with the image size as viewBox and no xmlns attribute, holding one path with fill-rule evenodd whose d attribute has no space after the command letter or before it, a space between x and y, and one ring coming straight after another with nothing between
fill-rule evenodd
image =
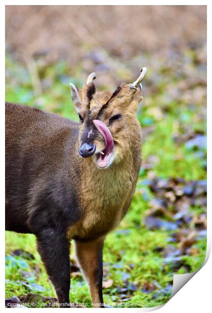
<instances>
[{"instance_id":1,"label":"deer's lighter orange-brown front leg, the right one","mask_svg":"<svg viewBox=\"0 0 212 313\"><path fill-rule=\"evenodd\" d=\"M94 307L103 307L102 297L102 248L103 238L92 241L75 240L76 254L88 282Z\"/></svg>"}]
</instances>

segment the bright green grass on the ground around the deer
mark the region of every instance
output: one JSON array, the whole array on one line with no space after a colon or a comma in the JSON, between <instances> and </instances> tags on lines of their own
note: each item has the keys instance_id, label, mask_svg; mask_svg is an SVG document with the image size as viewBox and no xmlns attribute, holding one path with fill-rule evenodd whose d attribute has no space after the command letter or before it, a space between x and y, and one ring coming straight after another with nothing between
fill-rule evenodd
<instances>
[{"instance_id":1,"label":"bright green grass on the ground around the deer","mask_svg":"<svg viewBox=\"0 0 212 313\"><path fill-rule=\"evenodd\" d=\"M77 71L80 74L80 67L72 70L73 73ZM69 68L64 62L48 67L38 66L38 72L40 79L45 79L46 84L43 85L43 93L35 96L27 67L14 62L10 56L7 56L6 100L36 106L77 121L78 117L71 103L68 82L74 81L77 85L82 85L83 82L69 77ZM177 82L173 80L171 84L175 87ZM196 118L201 113L202 104L197 101L194 110L190 110L186 101L181 100L178 103L168 101L165 108L165 95L166 88L162 84L158 87L157 93L144 100L138 113L138 119L143 128L147 126L154 128L143 142L143 162L145 163L152 155L156 156L157 162L151 171L159 177L182 177L185 180L205 179L205 155L197 159L195 149L188 149L185 143L177 144L174 140L176 129L178 134L183 134L186 127L193 132L199 130L205 132L205 121ZM133 302L141 303L143 306L156 306L167 302L170 297L171 290L166 293L163 289L172 284L174 272L171 265L163 265L163 257L158 252L158 247L164 248L167 245L176 244L168 242L173 231L150 231L143 224L145 212L149 208L149 201L144 196L144 191L148 198L152 197L152 193L142 184L142 181L149 175L149 171L141 169L130 211L121 225L109 234L105 241L104 280L113 279L114 281L110 288L103 290L105 302L122 302L120 289L126 286L130 299L124 303ZM190 210L196 215L202 213L201 207L191 207ZM206 239L198 240L194 246L198 248L197 254L183 256L190 272L198 270L204 262ZM15 249L28 251L35 258L24 259L12 256L11 252ZM72 255L74 255L73 246ZM6 297L27 293L36 293L40 297L56 296L36 251L34 235L6 232L6 256ZM27 278L26 272L29 273ZM179 268L177 273L186 273L185 267ZM35 283L44 289L30 290L26 284L23 285L23 281L29 284ZM149 293L142 292L142 286L147 282L155 284L156 290ZM132 291L129 287L131 284L137 284L138 289ZM87 302L90 306L88 287L82 277L72 278L70 297L73 302Z\"/></svg>"}]
</instances>

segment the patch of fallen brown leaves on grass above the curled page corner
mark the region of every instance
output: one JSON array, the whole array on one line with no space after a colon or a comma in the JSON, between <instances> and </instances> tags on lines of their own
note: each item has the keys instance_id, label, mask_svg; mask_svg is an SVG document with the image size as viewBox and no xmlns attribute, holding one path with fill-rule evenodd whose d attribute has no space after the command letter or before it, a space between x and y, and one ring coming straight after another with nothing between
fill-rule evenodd
<instances>
[{"instance_id":1,"label":"patch of fallen brown leaves on grass above the curled page corner","mask_svg":"<svg viewBox=\"0 0 212 313\"><path fill-rule=\"evenodd\" d=\"M195 246L198 238L206 235L206 213L196 214L192 206L206 205L206 181L185 181L182 178L152 179L144 182L152 191L150 208L146 211L144 225L150 229L171 231L170 242L165 248L156 247L164 257L163 265L177 272L184 268L190 271L183 255L196 255L200 251ZM203 201L204 200L204 201ZM200 201L200 202L199 202ZM148 287L148 286L147 286ZM148 290L148 288L146 289ZM149 287L150 288L150 287Z\"/></svg>"}]
</instances>

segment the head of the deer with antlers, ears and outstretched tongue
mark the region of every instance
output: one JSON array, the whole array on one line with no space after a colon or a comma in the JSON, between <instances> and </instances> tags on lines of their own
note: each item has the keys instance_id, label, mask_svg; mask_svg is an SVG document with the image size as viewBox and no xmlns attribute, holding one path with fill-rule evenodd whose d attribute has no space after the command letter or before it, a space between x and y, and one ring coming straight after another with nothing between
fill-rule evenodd
<instances>
[{"instance_id":1,"label":"head of the deer with antlers, ears and outstretched tongue","mask_svg":"<svg viewBox=\"0 0 212 313\"><path fill-rule=\"evenodd\" d=\"M79 154L92 156L99 169L118 164L133 147L140 132L136 111L143 99L141 81L146 74L142 68L132 84L123 83L114 92L96 91L95 73L88 76L82 89L70 83L72 101L79 115Z\"/></svg>"}]
</instances>

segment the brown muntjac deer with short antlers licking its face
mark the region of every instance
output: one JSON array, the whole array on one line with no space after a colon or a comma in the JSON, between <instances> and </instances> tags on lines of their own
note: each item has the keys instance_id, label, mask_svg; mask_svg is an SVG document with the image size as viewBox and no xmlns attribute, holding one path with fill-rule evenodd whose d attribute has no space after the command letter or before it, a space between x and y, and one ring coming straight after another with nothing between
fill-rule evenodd
<instances>
[{"instance_id":1,"label":"brown muntjac deer with short antlers licking its face","mask_svg":"<svg viewBox=\"0 0 212 313\"><path fill-rule=\"evenodd\" d=\"M91 73L70 83L79 122L6 102L6 230L36 236L60 307L70 307L70 242L94 306L102 297L102 248L126 215L141 167L141 81L97 91Z\"/></svg>"}]
</instances>

